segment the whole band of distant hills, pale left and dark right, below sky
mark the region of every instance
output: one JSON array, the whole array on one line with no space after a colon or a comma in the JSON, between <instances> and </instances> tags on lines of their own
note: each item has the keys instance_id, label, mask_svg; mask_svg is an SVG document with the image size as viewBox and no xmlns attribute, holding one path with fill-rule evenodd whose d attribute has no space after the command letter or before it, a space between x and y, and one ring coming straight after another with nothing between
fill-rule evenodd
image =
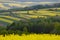
<instances>
[{"instance_id":1,"label":"whole band of distant hills, pale left and dark right, below sky","mask_svg":"<svg viewBox=\"0 0 60 40\"><path fill-rule=\"evenodd\" d=\"M43 8L55 8L60 7L60 3L50 3L50 4L19 4L19 3L0 3L0 10L34 10Z\"/></svg>"}]
</instances>

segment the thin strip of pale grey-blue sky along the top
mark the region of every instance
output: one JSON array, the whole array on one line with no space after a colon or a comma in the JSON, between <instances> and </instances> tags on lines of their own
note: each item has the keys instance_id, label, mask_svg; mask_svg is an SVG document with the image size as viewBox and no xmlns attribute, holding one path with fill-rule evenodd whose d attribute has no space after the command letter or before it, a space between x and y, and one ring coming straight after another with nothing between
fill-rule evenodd
<instances>
[{"instance_id":1,"label":"thin strip of pale grey-blue sky along the top","mask_svg":"<svg viewBox=\"0 0 60 40\"><path fill-rule=\"evenodd\" d=\"M0 0L0 2L60 2L60 0Z\"/></svg>"}]
</instances>

